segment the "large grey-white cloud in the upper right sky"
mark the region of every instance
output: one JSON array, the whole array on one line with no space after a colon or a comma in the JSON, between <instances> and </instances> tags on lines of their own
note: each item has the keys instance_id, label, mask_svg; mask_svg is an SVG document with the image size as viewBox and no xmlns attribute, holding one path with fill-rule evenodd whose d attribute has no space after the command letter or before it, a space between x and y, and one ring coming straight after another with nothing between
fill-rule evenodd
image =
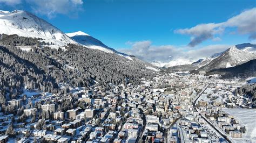
<instances>
[{"instance_id":1,"label":"large grey-white cloud in the upper right sky","mask_svg":"<svg viewBox=\"0 0 256 143\"><path fill-rule=\"evenodd\" d=\"M191 41L188 44L194 47L201 42L214 38L214 35L223 34L226 27L236 27L239 34L249 34L250 39L256 39L256 8L241 12L239 15L228 19L223 23L199 24L197 26L185 29L175 30L174 33L191 35Z\"/></svg>"}]
</instances>

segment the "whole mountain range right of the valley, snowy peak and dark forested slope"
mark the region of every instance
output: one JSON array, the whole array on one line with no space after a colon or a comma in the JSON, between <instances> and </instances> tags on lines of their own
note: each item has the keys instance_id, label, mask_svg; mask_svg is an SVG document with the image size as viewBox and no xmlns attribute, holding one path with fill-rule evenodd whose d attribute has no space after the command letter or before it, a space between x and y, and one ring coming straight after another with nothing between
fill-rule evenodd
<instances>
[{"instance_id":1,"label":"whole mountain range right of the valley, snowy peak and dark forested slope","mask_svg":"<svg viewBox=\"0 0 256 143\"><path fill-rule=\"evenodd\" d=\"M169 67L171 71L191 71L207 75L220 74L225 77L256 76L255 75L256 45L246 43L235 45L226 51L213 54L206 59L200 59L191 65Z\"/></svg>"}]
</instances>

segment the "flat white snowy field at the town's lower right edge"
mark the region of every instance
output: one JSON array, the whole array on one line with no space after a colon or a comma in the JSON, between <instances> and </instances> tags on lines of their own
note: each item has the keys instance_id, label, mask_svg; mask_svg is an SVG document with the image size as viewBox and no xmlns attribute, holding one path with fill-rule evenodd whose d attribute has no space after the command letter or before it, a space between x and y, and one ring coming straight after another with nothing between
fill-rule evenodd
<instances>
[{"instance_id":1,"label":"flat white snowy field at the town's lower right edge","mask_svg":"<svg viewBox=\"0 0 256 143\"><path fill-rule=\"evenodd\" d=\"M242 139L235 139L237 142L256 142L256 109L223 109L246 128L246 133L242 134Z\"/></svg>"}]
</instances>

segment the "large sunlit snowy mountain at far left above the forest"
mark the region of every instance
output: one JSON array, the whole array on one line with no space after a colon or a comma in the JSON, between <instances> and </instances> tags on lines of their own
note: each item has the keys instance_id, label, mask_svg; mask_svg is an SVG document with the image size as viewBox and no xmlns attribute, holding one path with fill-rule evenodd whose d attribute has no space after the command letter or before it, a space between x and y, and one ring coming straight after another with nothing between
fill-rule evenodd
<instances>
[{"instance_id":1,"label":"large sunlit snowy mountain at far left above the forest","mask_svg":"<svg viewBox=\"0 0 256 143\"><path fill-rule=\"evenodd\" d=\"M51 47L63 47L68 43L77 44L57 27L22 10L0 11L0 27L0 34L42 38L45 42L52 43Z\"/></svg>"}]
</instances>

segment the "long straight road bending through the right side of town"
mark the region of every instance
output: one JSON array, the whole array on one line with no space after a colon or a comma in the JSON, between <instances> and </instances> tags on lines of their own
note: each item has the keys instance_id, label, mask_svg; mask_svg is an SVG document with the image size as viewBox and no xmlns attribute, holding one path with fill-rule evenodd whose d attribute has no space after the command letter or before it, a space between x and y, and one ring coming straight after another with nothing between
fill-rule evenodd
<instances>
[{"instance_id":1,"label":"long straight road bending through the right side of town","mask_svg":"<svg viewBox=\"0 0 256 143\"><path fill-rule=\"evenodd\" d=\"M206 87L199 93L199 95L197 96L196 99L194 99L194 102L193 102L193 107L194 107L194 109L196 109L196 110L199 112L199 115L201 115L201 112L199 111L199 109L196 108L196 103L197 103L198 98L204 93L204 91L208 88L208 86L209 86L209 85L207 84ZM201 117L206 121L207 124L209 124L210 126L212 126L212 127L214 128L214 130L215 130L216 132L218 132L224 139L226 139L228 142L231 143L231 141L230 141L230 139L228 139L227 135L224 134L223 132L221 132L218 127L216 127L215 125L213 125L213 124L211 123L211 121L208 121L208 119L206 119L203 115L201 115Z\"/></svg>"}]
</instances>

